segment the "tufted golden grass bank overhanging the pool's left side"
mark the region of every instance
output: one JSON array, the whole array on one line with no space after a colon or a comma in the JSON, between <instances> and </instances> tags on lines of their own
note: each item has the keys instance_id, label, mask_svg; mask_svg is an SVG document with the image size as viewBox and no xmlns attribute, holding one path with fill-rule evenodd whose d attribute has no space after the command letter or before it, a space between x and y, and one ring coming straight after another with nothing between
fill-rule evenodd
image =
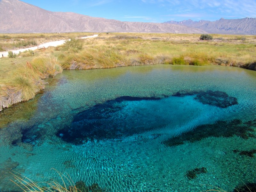
<instances>
[{"instance_id":1,"label":"tufted golden grass bank overhanging the pool's left side","mask_svg":"<svg viewBox=\"0 0 256 192\"><path fill-rule=\"evenodd\" d=\"M38 57L26 63L14 63L8 68L3 65L1 62L0 67L4 68L5 73L0 75L0 111L34 98L44 89L43 79L62 72L59 61L53 56Z\"/></svg>"}]
</instances>

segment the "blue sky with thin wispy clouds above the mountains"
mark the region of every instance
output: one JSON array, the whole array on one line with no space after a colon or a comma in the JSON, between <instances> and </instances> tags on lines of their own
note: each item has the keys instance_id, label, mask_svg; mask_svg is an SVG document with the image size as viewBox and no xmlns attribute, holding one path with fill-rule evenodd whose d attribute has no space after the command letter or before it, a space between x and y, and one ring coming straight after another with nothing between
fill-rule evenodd
<instances>
[{"instance_id":1,"label":"blue sky with thin wispy clouds above the mountains","mask_svg":"<svg viewBox=\"0 0 256 192\"><path fill-rule=\"evenodd\" d=\"M219 20L256 17L256 0L22 0L49 11L121 21Z\"/></svg>"}]
</instances>

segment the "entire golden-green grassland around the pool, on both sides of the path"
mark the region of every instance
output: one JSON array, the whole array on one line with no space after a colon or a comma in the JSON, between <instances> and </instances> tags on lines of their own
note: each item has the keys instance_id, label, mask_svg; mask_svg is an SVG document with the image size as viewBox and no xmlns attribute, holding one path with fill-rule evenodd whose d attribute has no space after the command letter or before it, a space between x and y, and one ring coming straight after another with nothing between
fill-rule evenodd
<instances>
[{"instance_id":1,"label":"entire golden-green grassland around the pool, on both sides of the path","mask_svg":"<svg viewBox=\"0 0 256 192\"><path fill-rule=\"evenodd\" d=\"M21 53L0 59L0 110L33 98L44 88L45 78L63 69L113 68L156 63L172 65L226 65L256 70L256 36L198 34L101 33L93 39L75 40L88 33L0 35L0 49L19 39L45 43L72 38L59 47ZM22 43L22 41L24 41ZM4 46L2 46L4 44ZM16 43L17 44L17 43Z\"/></svg>"}]
</instances>

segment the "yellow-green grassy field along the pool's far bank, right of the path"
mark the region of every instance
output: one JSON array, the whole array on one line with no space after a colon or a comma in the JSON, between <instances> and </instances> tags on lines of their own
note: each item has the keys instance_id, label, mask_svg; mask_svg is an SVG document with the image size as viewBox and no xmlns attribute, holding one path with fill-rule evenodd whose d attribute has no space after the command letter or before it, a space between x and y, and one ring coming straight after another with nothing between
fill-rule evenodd
<instances>
[{"instance_id":1,"label":"yellow-green grassy field along the pool's far bank, right of the path","mask_svg":"<svg viewBox=\"0 0 256 192\"><path fill-rule=\"evenodd\" d=\"M216 36L211 41L202 41L196 34L101 34L86 42L79 52L57 55L64 69L155 63L218 64L255 69L255 36Z\"/></svg>"}]
</instances>

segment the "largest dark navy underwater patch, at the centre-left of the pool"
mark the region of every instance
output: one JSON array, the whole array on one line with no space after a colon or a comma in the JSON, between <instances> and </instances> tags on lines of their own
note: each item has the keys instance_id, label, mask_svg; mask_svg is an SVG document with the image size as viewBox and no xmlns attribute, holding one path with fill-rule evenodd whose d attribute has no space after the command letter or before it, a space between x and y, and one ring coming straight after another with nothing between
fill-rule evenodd
<instances>
[{"instance_id":1,"label":"largest dark navy underwater patch, at the centre-left of the pool","mask_svg":"<svg viewBox=\"0 0 256 192\"><path fill-rule=\"evenodd\" d=\"M161 99L158 97L123 96L108 100L78 113L74 116L71 126L59 130L56 135L66 142L82 144L87 140L120 139L122 136L151 130L154 125L148 127L140 122L138 124L131 122L137 117L137 114L131 112L133 118L127 121L125 116L118 117L118 115L124 115L118 111L132 101Z\"/></svg>"}]
</instances>

